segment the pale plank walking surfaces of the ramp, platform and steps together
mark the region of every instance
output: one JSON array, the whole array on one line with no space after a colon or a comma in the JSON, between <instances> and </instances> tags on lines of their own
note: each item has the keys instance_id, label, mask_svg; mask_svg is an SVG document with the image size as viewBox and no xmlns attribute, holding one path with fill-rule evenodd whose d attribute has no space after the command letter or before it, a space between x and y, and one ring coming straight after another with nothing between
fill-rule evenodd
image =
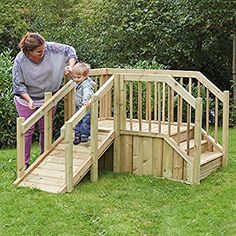
<instances>
[{"instance_id":1,"label":"pale plank walking surfaces of the ramp, platform and steps together","mask_svg":"<svg viewBox=\"0 0 236 236\"><path fill-rule=\"evenodd\" d=\"M115 138L115 132L113 130L113 119L102 119L99 121L99 135L98 135L98 158L108 149L113 143ZM168 134L168 124L161 124L161 133L158 133L159 128L156 122L150 123L143 121L141 132L140 126L137 120L133 120L132 131L133 135L138 136L155 136L159 137ZM190 153L191 156L193 150L193 130L194 125L190 126ZM130 121L126 122L126 130L124 134L129 134ZM186 124L182 124L180 127L180 149L186 151L185 133L187 132ZM171 134L173 140L177 134L177 125L172 124ZM90 142L86 144L73 145L73 186L76 186L81 179L88 173L92 165L92 157L90 150ZM212 148L211 148L212 149ZM221 166L222 152L209 151L209 142L202 140L202 154L201 154L201 179L208 176L212 171ZM40 159L40 158L39 158ZM52 193L63 193L67 191L65 184L65 144L64 139L58 142L55 147L48 154L41 158L41 161L34 163L25 173L25 175L15 181L18 186L37 188L42 191Z\"/></svg>"}]
</instances>

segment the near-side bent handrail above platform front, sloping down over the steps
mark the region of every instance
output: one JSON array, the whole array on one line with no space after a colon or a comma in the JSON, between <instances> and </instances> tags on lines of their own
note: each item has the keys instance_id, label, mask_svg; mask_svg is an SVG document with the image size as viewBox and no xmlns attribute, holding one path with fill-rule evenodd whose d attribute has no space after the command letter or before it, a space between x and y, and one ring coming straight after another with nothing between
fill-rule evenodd
<instances>
[{"instance_id":1,"label":"near-side bent handrail above platform front, sloping down over the steps","mask_svg":"<svg viewBox=\"0 0 236 236\"><path fill-rule=\"evenodd\" d=\"M121 75L125 76L124 80L127 81L165 82L173 90L175 90L178 94L180 94L181 97L187 103L189 103L193 108L196 108L196 99L169 75L138 74L139 78L137 78L137 74L121 74Z\"/></svg>"}]
</instances>

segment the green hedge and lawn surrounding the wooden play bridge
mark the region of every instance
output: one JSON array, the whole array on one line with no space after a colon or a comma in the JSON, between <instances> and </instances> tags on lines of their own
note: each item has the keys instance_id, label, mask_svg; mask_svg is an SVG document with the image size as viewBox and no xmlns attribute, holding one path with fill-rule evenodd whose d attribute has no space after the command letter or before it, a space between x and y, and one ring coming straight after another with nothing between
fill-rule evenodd
<instances>
[{"instance_id":1,"label":"green hedge and lawn surrounding the wooden play bridge","mask_svg":"<svg viewBox=\"0 0 236 236\"><path fill-rule=\"evenodd\" d=\"M72 45L92 68L201 71L233 105L236 2L224 0L1 0L0 234L1 235L236 235L235 128L229 166L187 186L154 177L103 173L70 195L12 185L16 110L11 69L28 31ZM61 125L60 104L56 123ZM10 149L11 148L11 149ZM33 149L33 156L38 148Z\"/></svg>"}]
</instances>

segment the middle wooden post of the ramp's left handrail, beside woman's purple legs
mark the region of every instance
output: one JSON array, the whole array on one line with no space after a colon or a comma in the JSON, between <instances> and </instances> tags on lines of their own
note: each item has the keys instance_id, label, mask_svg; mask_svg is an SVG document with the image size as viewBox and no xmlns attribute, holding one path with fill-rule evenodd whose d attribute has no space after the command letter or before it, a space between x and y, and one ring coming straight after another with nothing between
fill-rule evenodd
<instances>
[{"instance_id":1,"label":"middle wooden post of the ramp's left handrail, beside woman's purple legs","mask_svg":"<svg viewBox=\"0 0 236 236\"><path fill-rule=\"evenodd\" d=\"M52 97L51 92L44 93L44 101L48 101ZM47 151L52 144L52 110L48 111L44 116L44 151Z\"/></svg>"}]
</instances>

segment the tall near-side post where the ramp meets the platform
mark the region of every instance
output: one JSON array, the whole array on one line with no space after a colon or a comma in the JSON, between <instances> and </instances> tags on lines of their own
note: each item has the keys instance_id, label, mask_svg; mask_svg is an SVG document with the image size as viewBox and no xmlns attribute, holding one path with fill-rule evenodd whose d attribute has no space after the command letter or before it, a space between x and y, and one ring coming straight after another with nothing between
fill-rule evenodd
<instances>
[{"instance_id":1,"label":"tall near-side post where the ramp meets the platform","mask_svg":"<svg viewBox=\"0 0 236 236\"><path fill-rule=\"evenodd\" d=\"M120 172L120 75L114 77L114 160L113 169Z\"/></svg>"}]
</instances>

